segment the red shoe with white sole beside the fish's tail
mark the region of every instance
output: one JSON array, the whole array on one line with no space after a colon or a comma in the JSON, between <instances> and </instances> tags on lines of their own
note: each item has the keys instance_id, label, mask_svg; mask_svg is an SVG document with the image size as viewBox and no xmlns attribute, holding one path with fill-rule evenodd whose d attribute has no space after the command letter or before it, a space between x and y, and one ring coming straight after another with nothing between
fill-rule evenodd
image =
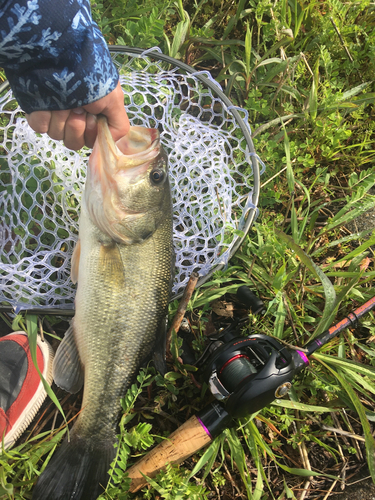
<instances>
[{"instance_id":1,"label":"red shoe with white sole beside the fish's tail","mask_svg":"<svg viewBox=\"0 0 375 500\"><path fill-rule=\"evenodd\" d=\"M52 347L38 337L38 367L49 385L52 361ZM5 448L26 430L46 395L31 360L27 334L15 332L0 338L0 439L4 437Z\"/></svg>"}]
</instances>

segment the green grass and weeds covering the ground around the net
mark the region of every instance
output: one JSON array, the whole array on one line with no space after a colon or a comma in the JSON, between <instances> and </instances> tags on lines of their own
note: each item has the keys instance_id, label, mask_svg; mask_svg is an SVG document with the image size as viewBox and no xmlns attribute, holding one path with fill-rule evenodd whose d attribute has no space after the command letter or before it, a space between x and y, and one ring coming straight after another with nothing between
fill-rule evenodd
<instances>
[{"instance_id":1,"label":"green grass and weeds covering the ground around the net","mask_svg":"<svg viewBox=\"0 0 375 500\"><path fill-rule=\"evenodd\" d=\"M375 232L363 221L371 220L375 202L374 3L113 0L92 8L109 44L159 46L210 71L248 111L266 165L258 220L228 268L189 303L196 357L207 334L233 318L246 318L243 335L303 346L371 298ZM262 317L236 299L242 284L264 301ZM171 318L177 305L170 305ZM3 321L11 328L9 317ZM35 335L38 319L26 321ZM59 321L44 318L45 335L61 336L66 323ZM359 474L375 481L374 341L370 313L313 356L286 398L236 421L132 495L127 467L207 402L207 388L180 362L182 341L174 337L165 377L142 370L123 400L116 463L100 498L327 499ZM74 418L79 397L56 395L64 418ZM46 402L18 446L0 456L1 498L31 498L65 432Z\"/></svg>"}]
</instances>

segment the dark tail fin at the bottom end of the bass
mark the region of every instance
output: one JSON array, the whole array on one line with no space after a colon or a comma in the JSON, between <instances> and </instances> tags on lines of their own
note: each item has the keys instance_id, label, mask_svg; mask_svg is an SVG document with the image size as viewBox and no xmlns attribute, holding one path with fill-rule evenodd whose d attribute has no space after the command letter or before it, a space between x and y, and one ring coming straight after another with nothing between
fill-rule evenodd
<instances>
[{"instance_id":1,"label":"dark tail fin at the bottom end of the bass","mask_svg":"<svg viewBox=\"0 0 375 500\"><path fill-rule=\"evenodd\" d=\"M33 500L95 500L107 485L115 453L112 440L85 440L73 429L38 479Z\"/></svg>"}]
</instances>

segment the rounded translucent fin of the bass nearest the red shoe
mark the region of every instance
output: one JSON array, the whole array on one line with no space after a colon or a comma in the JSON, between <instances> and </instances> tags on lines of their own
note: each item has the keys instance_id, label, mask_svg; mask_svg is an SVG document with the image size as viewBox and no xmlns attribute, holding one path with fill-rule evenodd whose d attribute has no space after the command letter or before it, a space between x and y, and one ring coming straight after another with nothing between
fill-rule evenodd
<instances>
[{"instance_id":1,"label":"rounded translucent fin of the bass nearest the red shoe","mask_svg":"<svg viewBox=\"0 0 375 500\"><path fill-rule=\"evenodd\" d=\"M53 378L64 391L75 394L84 381L83 365L74 340L73 327L70 326L59 345L53 360Z\"/></svg>"}]
</instances>

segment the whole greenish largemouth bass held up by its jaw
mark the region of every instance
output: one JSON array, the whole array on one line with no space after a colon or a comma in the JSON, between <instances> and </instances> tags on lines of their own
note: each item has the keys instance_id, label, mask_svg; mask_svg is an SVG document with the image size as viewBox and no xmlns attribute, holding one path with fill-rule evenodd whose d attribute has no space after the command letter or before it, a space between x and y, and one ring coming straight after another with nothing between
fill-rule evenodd
<instances>
[{"instance_id":1,"label":"whole greenish largemouth bass held up by its jaw","mask_svg":"<svg viewBox=\"0 0 375 500\"><path fill-rule=\"evenodd\" d=\"M120 398L156 350L173 267L167 158L159 133L132 127L115 144L100 117L72 257L75 316L54 362L55 382L82 410L34 489L34 500L95 499L115 456Z\"/></svg>"}]
</instances>

